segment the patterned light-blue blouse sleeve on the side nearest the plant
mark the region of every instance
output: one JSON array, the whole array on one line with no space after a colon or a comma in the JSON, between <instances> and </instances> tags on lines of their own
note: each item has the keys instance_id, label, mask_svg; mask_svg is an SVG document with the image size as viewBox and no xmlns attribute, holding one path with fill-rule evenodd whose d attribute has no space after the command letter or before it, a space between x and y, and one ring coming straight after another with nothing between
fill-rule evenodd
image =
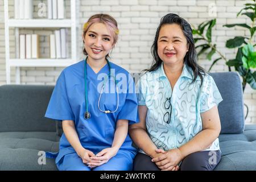
<instances>
[{"instance_id":1,"label":"patterned light-blue blouse sleeve on the side nearest the plant","mask_svg":"<svg viewBox=\"0 0 256 182\"><path fill-rule=\"evenodd\" d=\"M220 92L212 76L205 76L200 93L200 113L212 109L222 101Z\"/></svg>"}]
</instances>

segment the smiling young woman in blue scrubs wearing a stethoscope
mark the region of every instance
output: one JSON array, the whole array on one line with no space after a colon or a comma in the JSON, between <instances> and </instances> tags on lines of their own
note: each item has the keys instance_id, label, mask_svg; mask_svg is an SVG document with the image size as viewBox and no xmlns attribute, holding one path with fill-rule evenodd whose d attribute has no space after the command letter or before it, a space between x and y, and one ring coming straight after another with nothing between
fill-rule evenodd
<instances>
[{"instance_id":1,"label":"smiling young woman in blue scrubs wearing a stethoscope","mask_svg":"<svg viewBox=\"0 0 256 182\"><path fill-rule=\"evenodd\" d=\"M127 132L139 118L137 96L128 89L135 86L125 69L108 61L118 32L112 16L91 16L82 32L86 58L65 68L56 82L46 117L62 121L64 133L59 152L47 157L56 158L59 170L133 169L137 150ZM122 90L121 76L127 80Z\"/></svg>"}]
</instances>

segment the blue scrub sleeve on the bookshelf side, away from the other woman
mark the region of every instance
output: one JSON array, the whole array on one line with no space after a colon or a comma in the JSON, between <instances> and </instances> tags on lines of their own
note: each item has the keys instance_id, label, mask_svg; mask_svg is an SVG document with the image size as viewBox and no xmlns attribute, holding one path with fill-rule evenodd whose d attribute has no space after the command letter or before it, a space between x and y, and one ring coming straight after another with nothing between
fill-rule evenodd
<instances>
[{"instance_id":1,"label":"blue scrub sleeve on the bookshelf side, away from the other woman","mask_svg":"<svg viewBox=\"0 0 256 182\"><path fill-rule=\"evenodd\" d=\"M75 120L75 116L68 101L67 86L64 72L61 72L53 89L45 117L56 120Z\"/></svg>"}]
</instances>

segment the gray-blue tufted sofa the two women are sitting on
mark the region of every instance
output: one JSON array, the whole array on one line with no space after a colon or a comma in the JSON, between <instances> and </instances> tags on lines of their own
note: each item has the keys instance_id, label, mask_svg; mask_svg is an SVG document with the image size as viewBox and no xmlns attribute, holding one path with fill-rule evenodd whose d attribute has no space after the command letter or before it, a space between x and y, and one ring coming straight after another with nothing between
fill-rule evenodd
<instances>
[{"instance_id":1,"label":"gray-blue tufted sofa the two women are sitting on","mask_svg":"<svg viewBox=\"0 0 256 182\"><path fill-rule=\"evenodd\" d=\"M215 170L256 170L256 125L244 125L240 77L210 73L224 101L221 118L222 159ZM0 86L0 170L57 170L40 151L58 151L61 125L44 118L53 86ZM42 164L43 163L43 164Z\"/></svg>"}]
</instances>

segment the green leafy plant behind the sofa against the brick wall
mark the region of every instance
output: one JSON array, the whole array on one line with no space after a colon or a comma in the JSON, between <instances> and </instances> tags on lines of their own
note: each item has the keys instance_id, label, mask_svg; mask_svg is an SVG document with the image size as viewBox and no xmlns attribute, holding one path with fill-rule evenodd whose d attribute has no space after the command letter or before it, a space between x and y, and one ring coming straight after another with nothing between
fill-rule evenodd
<instances>
[{"instance_id":1,"label":"green leafy plant behind the sofa against the brick wall","mask_svg":"<svg viewBox=\"0 0 256 182\"><path fill-rule=\"evenodd\" d=\"M253 43L254 34L256 31L256 0L252 0L252 3L246 3L245 7L237 13L239 15L245 15L250 20L250 25L246 23L236 23L236 24L225 24L225 27L231 28L235 26L240 26L247 28L250 31L250 36L235 36L233 39L229 39L226 42L227 48L235 48L237 49L236 57L234 59L228 60L226 57L219 51L216 47L216 44L212 43L212 28L216 24L216 19L207 20L201 24L197 28L193 27L193 34L195 36L195 43L201 42L201 44L197 45L198 56L203 53L207 53L207 59L212 60L214 54L217 54L217 59L212 60L212 64L210 65L210 69L217 63L217 61L223 59L225 60L226 65L231 71L233 67L235 71L237 71L242 77L242 88L243 92L246 88L246 84L249 84L251 88L256 89L256 71L253 71L256 68L256 51L254 47L256 46ZM247 107L247 105L245 105ZM248 113L248 107L247 107ZM247 117L246 113L246 117Z\"/></svg>"}]
</instances>

